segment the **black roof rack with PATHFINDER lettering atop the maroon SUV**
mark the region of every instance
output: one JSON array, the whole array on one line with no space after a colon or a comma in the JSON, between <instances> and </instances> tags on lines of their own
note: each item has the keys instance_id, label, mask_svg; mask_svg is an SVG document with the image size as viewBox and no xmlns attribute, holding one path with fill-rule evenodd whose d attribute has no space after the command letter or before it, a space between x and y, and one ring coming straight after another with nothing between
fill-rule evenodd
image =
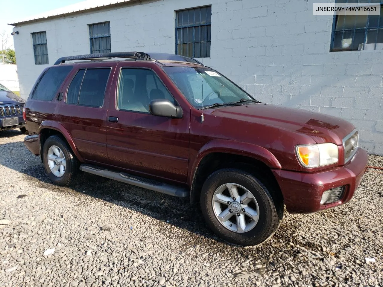
<instances>
[{"instance_id":1,"label":"black roof rack with PATHFINDER lettering atop the maroon SUV","mask_svg":"<svg viewBox=\"0 0 383 287\"><path fill-rule=\"evenodd\" d=\"M61 57L57 59L54 65L64 64L66 61L72 60L108 60L111 58L126 58L133 60L155 60L155 61L175 61L175 62L188 62L193 64L203 64L194 58L185 57L182 55L165 54L165 53L144 53L144 52L113 52L113 53L100 53L100 54L87 54L69 57Z\"/></svg>"}]
</instances>

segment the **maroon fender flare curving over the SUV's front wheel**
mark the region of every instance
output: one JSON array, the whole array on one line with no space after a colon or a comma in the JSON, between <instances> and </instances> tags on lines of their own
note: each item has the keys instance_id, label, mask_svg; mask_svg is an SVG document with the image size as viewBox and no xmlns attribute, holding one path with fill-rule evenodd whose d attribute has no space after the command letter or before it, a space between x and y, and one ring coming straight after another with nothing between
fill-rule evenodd
<instances>
[{"instance_id":1,"label":"maroon fender flare curving over the SUV's front wheel","mask_svg":"<svg viewBox=\"0 0 383 287\"><path fill-rule=\"evenodd\" d=\"M282 166L275 156L264 147L246 142L237 142L235 140L211 140L200 148L195 161L190 165L188 184L190 186L190 199L193 194L195 175L200 166L201 160L210 153L231 153L254 158L267 165L271 169L281 169Z\"/></svg>"}]
</instances>

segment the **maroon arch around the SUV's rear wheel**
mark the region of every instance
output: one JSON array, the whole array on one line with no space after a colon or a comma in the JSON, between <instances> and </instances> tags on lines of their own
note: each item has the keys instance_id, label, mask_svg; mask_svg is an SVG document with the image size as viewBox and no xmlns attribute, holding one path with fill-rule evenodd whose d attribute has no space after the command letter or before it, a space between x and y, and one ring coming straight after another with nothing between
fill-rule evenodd
<instances>
[{"instance_id":1,"label":"maroon arch around the SUV's rear wheel","mask_svg":"<svg viewBox=\"0 0 383 287\"><path fill-rule=\"evenodd\" d=\"M59 135L68 143L69 147L72 149L77 159L79 161L83 161L83 158L77 150L72 137L70 136L68 130L65 129L65 127L62 124L54 121L44 121L39 126L38 134L40 135L40 156L42 156L42 150L45 140L51 135Z\"/></svg>"}]
</instances>

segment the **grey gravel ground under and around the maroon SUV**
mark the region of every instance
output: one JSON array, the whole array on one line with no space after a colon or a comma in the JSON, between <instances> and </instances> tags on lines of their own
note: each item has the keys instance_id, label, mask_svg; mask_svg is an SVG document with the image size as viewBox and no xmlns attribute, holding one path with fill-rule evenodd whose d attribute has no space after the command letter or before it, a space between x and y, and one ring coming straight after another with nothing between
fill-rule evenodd
<instances>
[{"instance_id":1,"label":"grey gravel ground under and around the maroon SUV","mask_svg":"<svg viewBox=\"0 0 383 287\"><path fill-rule=\"evenodd\" d=\"M244 248L187 199L91 174L54 186L23 138L0 134L0 286L383 286L382 171L348 204L286 212L270 240Z\"/></svg>"}]
</instances>

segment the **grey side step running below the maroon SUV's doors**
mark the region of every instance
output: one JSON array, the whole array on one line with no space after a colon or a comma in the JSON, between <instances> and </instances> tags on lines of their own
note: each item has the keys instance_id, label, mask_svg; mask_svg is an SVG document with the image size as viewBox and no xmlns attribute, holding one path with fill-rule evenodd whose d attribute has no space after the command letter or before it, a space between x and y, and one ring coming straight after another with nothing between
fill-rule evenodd
<instances>
[{"instance_id":1,"label":"grey side step running below the maroon SUV's doors","mask_svg":"<svg viewBox=\"0 0 383 287\"><path fill-rule=\"evenodd\" d=\"M143 178L141 176L136 176L128 173L118 173L116 171L108 170L95 165L80 165L80 170L87 173L96 174L103 176L104 178L115 179L123 183L132 184L139 186L140 188L146 188L157 192L162 192L169 194L171 196L177 197L188 197L189 191L186 188L175 186L167 183L162 183L160 181L155 181L153 179Z\"/></svg>"}]
</instances>

